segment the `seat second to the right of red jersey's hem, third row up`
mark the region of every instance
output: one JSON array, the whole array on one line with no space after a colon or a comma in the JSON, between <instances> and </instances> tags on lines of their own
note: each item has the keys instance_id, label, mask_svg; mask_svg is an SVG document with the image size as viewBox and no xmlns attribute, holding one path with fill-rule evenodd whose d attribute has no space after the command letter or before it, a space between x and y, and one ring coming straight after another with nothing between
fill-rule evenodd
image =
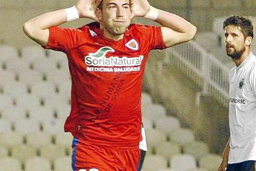
<instances>
[{"instance_id":1,"label":"seat second to the right of red jersey's hem, third row up","mask_svg":"<svg viewBox=\"0 0 256 171\"><path fill-rule=\"evenodd\" d=\"M195 136L190 129L176 128L170 133L170 140L178 145L184 146L195 140Z\"/></svg>"}]
</instances>

